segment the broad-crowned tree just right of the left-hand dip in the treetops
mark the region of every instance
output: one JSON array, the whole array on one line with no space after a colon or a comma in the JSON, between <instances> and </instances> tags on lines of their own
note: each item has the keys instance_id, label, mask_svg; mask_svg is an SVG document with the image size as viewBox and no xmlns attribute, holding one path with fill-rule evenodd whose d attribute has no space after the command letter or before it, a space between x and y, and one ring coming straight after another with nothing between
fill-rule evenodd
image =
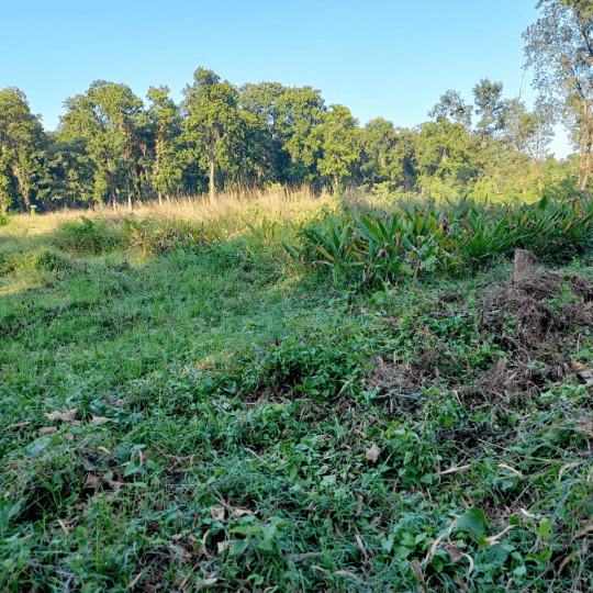
<instances>
[{"instance_id":1,"label":"broad-crowned tree just right of the left-hand dip in the treetops","mask_svg":"<svg viewBox=\"0 0 593 593\"><path fill-rule=\"evenodd\" d=\"M94 166L93 198L109 198L114 205L125 194L130 206L141 186L138 118L143 102L130 87L104 80L93 82L85 94L65 102L60 119L65 141L86 139Z\"/></svg>"}]
</instances>

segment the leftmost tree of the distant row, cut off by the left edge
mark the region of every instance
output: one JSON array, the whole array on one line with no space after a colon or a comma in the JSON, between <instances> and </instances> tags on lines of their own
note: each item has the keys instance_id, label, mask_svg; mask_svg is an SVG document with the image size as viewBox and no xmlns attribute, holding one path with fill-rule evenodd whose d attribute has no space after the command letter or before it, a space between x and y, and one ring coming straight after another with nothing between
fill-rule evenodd
<instances>
[{"instance_id":1,"label":"leftmost tree of the distant row, cut off by the left edge","mask_svg":"<svg viewBox=\"0 0 593 593\"><path fill-rule=\"evenodd\" d=\"M40 118L31 113L26 96L15 87L0 90L0 208L29 208L43 176L44 145Z\"/></svg>"}]
</instances>

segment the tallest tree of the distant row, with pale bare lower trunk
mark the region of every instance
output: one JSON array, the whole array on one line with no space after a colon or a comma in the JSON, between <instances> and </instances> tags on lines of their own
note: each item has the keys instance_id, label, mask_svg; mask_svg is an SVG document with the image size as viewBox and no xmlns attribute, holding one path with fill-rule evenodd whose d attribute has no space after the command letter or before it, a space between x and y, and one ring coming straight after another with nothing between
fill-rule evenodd
<instances>
[{"instance_id":1,"label":"tallest tree of the distant row, with pale bare lower trunk","mask_svg":"<svg viewBox=\"0 0 593 593\"><path fill-rule=\"evenodd\" d=\"M228 159L233 135L242 128L237 107L238 91L213 70L198 68L193 85L183 90L186 137L194 149L205 150L210 180L210 201L215 202L216 167Z\"/></svg>"}]
</instances>

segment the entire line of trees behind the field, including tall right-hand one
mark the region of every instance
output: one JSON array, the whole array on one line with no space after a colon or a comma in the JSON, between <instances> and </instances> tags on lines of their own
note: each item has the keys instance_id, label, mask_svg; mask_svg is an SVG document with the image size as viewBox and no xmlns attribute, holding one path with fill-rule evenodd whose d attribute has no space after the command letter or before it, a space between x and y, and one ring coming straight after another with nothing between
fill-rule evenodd
<instances>
[{"instance_id":1,"label":"entire line of trees behind the field, including tall right-hand one","mask_svg":"<svg viewBox=\"0 0 593 593\"><path fill-rule=\"evenodd\" d=\"M312 87L222 80L200 67L176 103L167 86L146 102L98 80L64 103L45 132L16 88L0 90L0 208L119 204L220 190L307 183L434 198L582 193L593 169L593 5L539 0L524 33L539 94L532 109L483 78L468 103L447 90L413 128L360 126ZM575 154L548 154L561 121Z\"/></svg>"}]
</instances>

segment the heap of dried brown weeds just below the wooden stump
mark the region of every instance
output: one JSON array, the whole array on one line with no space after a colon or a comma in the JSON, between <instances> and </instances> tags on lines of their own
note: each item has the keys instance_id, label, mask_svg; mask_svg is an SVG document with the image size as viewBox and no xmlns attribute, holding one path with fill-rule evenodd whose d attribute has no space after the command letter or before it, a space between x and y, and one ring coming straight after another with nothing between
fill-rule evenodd
<instances>
[{"instance_id":1,"label":"heap of dried brown weeds just below the wooden stump","mask_svg":"<svg viewBox=\"0 0 593 593\"><path fill-rule=\"evenodd\" d=\"M507 357L460 395L481 394L488 400L504 393L534 393L549 381L575 374L570 353L593 327L592 300L593 284L574 275L544 272L494 290L480 304L484 313L479 332L494 333Z\"/></svg>"}]
</instances>

